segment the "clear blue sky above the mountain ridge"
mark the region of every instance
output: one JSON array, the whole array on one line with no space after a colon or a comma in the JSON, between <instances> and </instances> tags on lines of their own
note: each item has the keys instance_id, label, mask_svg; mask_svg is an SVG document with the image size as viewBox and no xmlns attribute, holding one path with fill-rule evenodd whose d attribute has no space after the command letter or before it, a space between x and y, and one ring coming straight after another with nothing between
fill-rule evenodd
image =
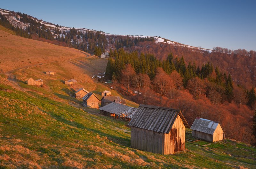
<instances>
[{"instance_id":1,"label":"clear blue sky above the mountain ridge","mask_svg":"<svg viewBox=\"0 0 256 169\"><path fill-rule=\"evenodd\" d=\"M0 8L61 26L161 36L209 49L256 50L256 0L1 0Z\"/></svg>"}]
</instances>

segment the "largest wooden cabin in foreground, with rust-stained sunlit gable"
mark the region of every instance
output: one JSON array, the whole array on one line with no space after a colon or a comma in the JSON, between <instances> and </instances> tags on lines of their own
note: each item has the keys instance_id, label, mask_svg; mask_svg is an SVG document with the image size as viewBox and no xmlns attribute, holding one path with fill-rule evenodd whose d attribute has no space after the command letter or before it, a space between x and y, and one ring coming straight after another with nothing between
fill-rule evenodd
<instances>
[{"instance_id":1,"label":"largest wooden cabin in foreground, with rust-stained sunlit gable","mask_svg":"<svg viewBox=\"0 0 256 169\"><path fill-rule=\"evenodd\" d=\"M185 150L185 127L189 126L181 110L140 105L128 126L131 148L159 154Z\"/></svg>"}]
</instances>

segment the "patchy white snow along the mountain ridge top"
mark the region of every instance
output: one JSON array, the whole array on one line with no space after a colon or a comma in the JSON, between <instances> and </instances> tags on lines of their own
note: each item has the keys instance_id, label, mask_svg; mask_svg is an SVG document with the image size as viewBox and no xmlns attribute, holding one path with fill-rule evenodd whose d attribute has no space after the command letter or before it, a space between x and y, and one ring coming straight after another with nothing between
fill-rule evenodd
<instances>
[{"instance_id":1,"label":"patchy white snow along the mountain ridge top","mask_svg":"<svg viewBox=\"0 0 256 169\"><path fill-rule=\"evenodd\" d=\"M17 14L17 12L0 9L0 13L2 15L4 15L13 26L16 26L16 27L19 26L19 28L22 28L23 30L25 30L29 26L29 24L24 24L23 22L20 21L21 17ZM66 26L57 26L55 24L45 22L43 20L39 20L39 19L34 18L32 16L28 16L28 17L33 18L34 20L36 20L37 22L40 22L41 24L44 24L46 27L48 27L51 30L52 34L54 34L54 30L56 28L59 29L62 33L64 31L69 31L70 29L73 29L71 27L66 27ZM90 29L86 29L86 28L75 28L75 29L79 30L80 32L83 32L83 33L88 32L88 31L97 32L95 30L90 30ZM107 35L107 36L127 36L127 35L117 35L117 34L110 34L110 33L103 33L103 32L101 32L101 33L104 34L104 35ZM62 35L60 34L60 37L61 36ZM144 35L140 35L140 36L139 35L128 35L128 36L132 37L132 38L139 38L139 37L140 38L142 38L142 37L144 37L144 38L154 38L156 43L168 43L168 44L175 45L175 46L181 46L181 47L187 47L187 48L190 48L190 49L199 49L199 50L204 50L204 51L207 51L207 52L212 52L211 49L193 47L193 46L181 44L181 43L171 41L171 40L168 40L168 39L164 39L164 38L161 38L161 37L157 37L157 36L144 36ZM57 38L57 36L54 36L54 38Z\"/></svg>"}]
</instances>

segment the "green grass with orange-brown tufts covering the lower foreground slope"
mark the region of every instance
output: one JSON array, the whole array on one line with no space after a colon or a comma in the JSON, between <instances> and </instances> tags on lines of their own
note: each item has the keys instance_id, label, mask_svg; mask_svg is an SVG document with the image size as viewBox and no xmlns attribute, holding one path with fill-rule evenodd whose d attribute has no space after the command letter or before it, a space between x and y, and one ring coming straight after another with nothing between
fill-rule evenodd
<instances>
[{"instance_id":1,"label":"green grass with orange-brown tufts covering the lower foreground slope","mask_svg":"<svg viewBox=\"0 0 256 169\"><path fill-rule=\"evenodd\" d=\"M193 142L197 139L189 129L186 151L160 155L132 149L126 121L51 99L47 92L39 94L40 87L26 87L31 91L0 84L10 89L0 90L1 168L255 168L255 147L231 140L203 147L209 143ZM72 101L70 96L62 99Z\"/></svg>"}]
</instances>

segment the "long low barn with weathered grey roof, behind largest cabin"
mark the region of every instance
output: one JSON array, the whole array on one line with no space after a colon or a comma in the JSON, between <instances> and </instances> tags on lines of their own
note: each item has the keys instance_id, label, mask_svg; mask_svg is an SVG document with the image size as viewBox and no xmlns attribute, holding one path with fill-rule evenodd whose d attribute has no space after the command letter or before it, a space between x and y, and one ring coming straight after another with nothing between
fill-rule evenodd
<instances>
[{"instance_id":1,"label":"long low barn with weathered grey roof, behind largest cabin","mask_svg":"<svg viewBox=\"0 0 256 169\"><path fill-rule=\"evenodd\" d=\"M100 107L100 114L113 116L118 119L125 118L126 116L129 116L130 120L132 118L132 115L137 111L137 108L125 106L122 104L117 103L109 103L108 105L104 107ZM125 118L129 121L129 118Z\"/></svg>"}]
</instances>

